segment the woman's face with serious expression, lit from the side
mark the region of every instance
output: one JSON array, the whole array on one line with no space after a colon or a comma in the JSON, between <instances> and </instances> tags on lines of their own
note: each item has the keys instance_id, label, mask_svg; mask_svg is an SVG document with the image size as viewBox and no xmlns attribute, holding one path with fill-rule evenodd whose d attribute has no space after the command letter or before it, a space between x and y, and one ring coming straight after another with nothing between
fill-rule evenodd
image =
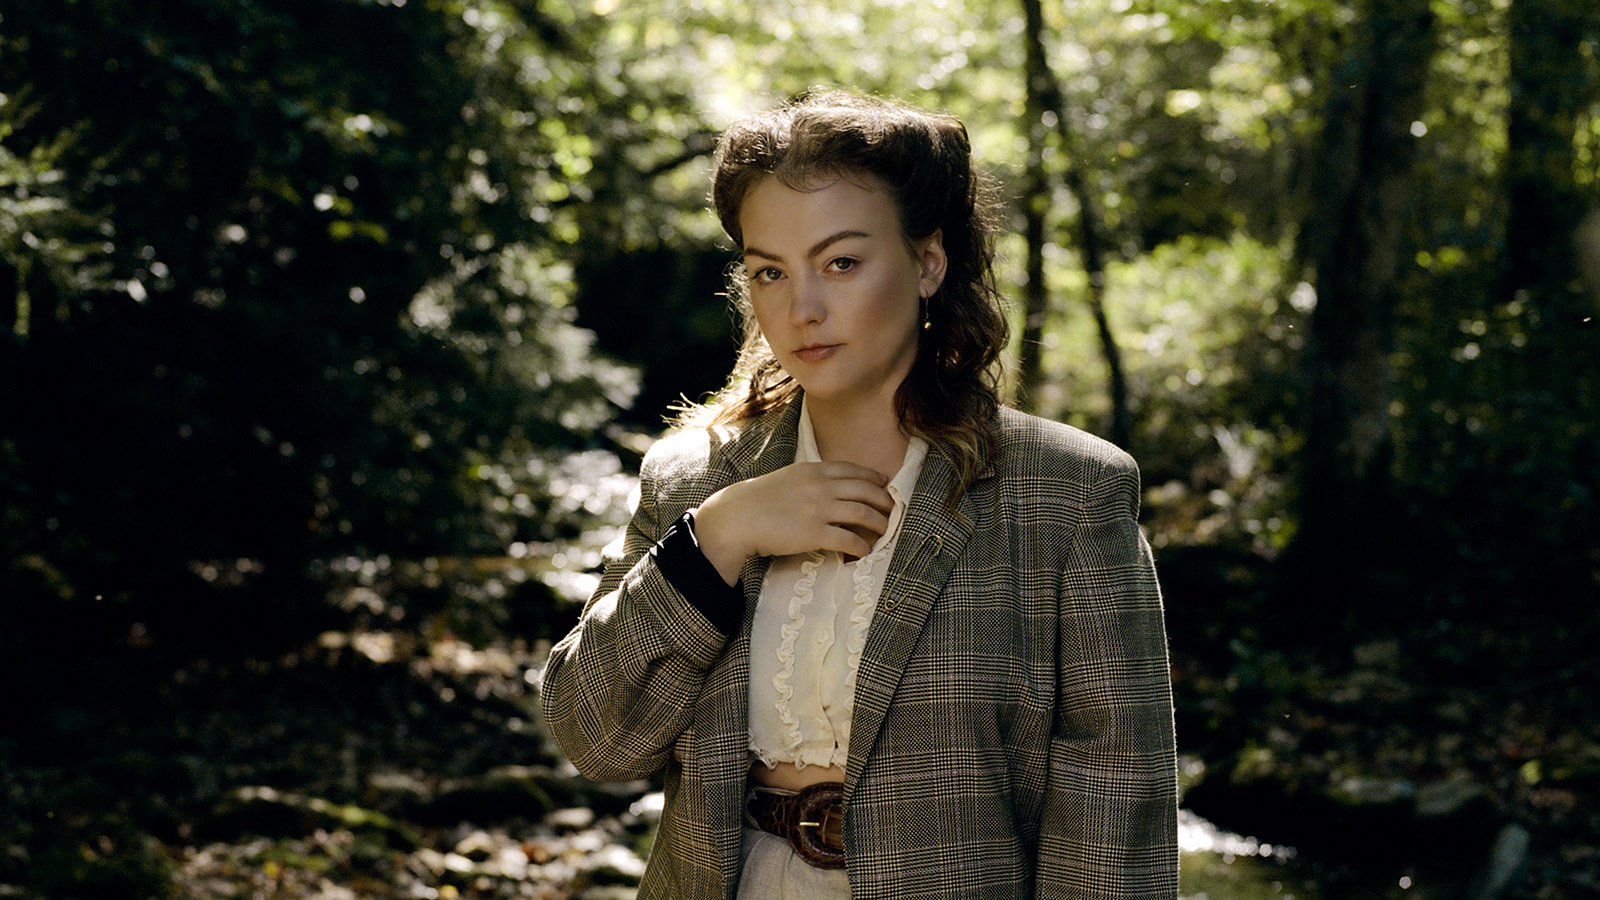
<instances>
[{"instance_id":1,"label":"woman's face with serious expression, lit from the side","mask_svg":"<svg viewBox=\"0 0 1600 900\"><path fill-rule=\"evenodd\" d=\"M811 191L766 178L739 227L757 325L811 404L891 402L917 357L922 298L944 279L939 232L907 245L870 176Z\"/></svg>"}]
</instances>

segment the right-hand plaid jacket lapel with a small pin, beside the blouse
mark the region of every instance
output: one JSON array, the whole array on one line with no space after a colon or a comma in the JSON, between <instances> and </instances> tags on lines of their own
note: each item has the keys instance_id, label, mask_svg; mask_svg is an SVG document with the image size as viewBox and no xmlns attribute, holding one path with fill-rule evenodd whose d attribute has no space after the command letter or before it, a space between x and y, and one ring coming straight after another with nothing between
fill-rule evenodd
<instances>
[{"instance_id":1,"label":"right-hand plaid jacket lapel with a small pin, beside the blouse","mask_svg":"<svg viewBox=\"0 0 1600 900\"><path fill-rule=\"evenodd\" d=\"M923 463L917 490L906 508L899 541L883 580L878 609L867 628L867 644L856 671L854 713L850 725L850 762L845 767L846 798L872 754L890 700L901 673L910 660L922 629L928 623L933 602L955 567L962 548L973 533L978 503L968 490L958 516L952 516L944 498L955 485L955 468L942 450L933 448Z\"/></svg>"}]
</instances>

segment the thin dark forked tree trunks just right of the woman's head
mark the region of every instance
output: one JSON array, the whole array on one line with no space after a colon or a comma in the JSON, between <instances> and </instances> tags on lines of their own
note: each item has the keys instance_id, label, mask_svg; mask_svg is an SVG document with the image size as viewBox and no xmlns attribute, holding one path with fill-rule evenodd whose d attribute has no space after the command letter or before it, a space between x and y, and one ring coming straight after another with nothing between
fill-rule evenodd
<instances>
[{"instance_id":1,"label":"thin dark forked tree trunks just right of the woman's head","mask_svg":"<svg viewBox=\"0 0 1600 900\"><path fill-rule=\"evenodd\" d=\"M1083 154L1074 152L1077 141L1074 141L1072 127L1067 119L1067 104L1061 91L1061 83L1056 80L1056 74L1050 67L1050 58L1045 56L1045 14L1040 6L1040 0L1022 0L1022 19L1024 19L1024 67L1027 75L1027 125L1029 125L1029 162L1032 165L1034 157L1038 157L1038 181L1037 181L1037 200L1030 197L1030 208L1027 215L1030 216L1027 224L1034 226L1034 218L1038 219L1038 235L1037 235L1037 253L1038 253L1038 287L1034 288L1034 255L1035 255L1035 239L1029 234L1029 293L1026 295L1027 304L1024 312L1027 319L1022 327L1024 354L1034 354L1037 357L1038 346L1029 346L1029 333L1034 328L1034 315L1037 312L1038 328L1034 330L1037 341L1042 335L1043 317L1046 309L1046 293L1043 285L1043 242L1045 242L1045 211L1048 210L1048 184L1043 175L1043 143L1046 136L1046 119L1051 115L1056 120L1056 136L1061 141L1061 151L1069 159L1066 170L1066 186L1072 194L1074 200L1078 203L1078 229L1077 243L1078 255L1083 259L1083 269L1090 280L1090 312L1094 315L1094 327L1101 340L1101 352L1106 356L1106 368L1109 372L1110 383L1110 439L1118 447L1128 447L1133 440L1133 415L1128 408L1128 378L1122 367L1122 351L1117 348L1117 338L1112 333L1110 320L1106 317L1106 240L1101 235L1099 224L1099 207L1093 202L1088 192L1088 183L1083 178ZM1035 295L1037 290L1037 307ZM1027 375L1029 357L1022 359L1022 375ZM1037 367L1037 360L1032 362ZM1042 378L1042 373L1034 373L1035 380ZM1021 380L1027 384L1026 378ZM1037 381L1034 383L1037 386Z\"/></svg>"}]
</instances>

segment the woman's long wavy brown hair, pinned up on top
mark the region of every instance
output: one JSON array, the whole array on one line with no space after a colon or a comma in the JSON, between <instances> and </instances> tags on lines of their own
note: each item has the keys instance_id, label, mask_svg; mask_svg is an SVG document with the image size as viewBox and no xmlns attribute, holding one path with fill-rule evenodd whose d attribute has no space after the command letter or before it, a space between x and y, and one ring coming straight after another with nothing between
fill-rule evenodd
<instances>
[{"instance_id":1,"label":"woman's long wavy brown hair, pinned up on top","mask_svg":"<svg viewBox=\"0 0 1600 900\"><path fill-rule=\"evenodd\" d=\"M1008 325L995 287L998 216L992 189L973 168L966 127L952 115L843 91L810 93L730 127L717 146L712 205L736 247L739 208L766 178L797 191L870 175L899 210L907 242L941 232L944 282L928 298L930 327L894 396L902 428L942 445L958 469L958 496L994 453L1000 354ZM738 424L792 400L800 384L778 365L750 309L744 264L730 269L730 296L744 341L728 384L680 424Z\"/></svg>"}]
</instances>

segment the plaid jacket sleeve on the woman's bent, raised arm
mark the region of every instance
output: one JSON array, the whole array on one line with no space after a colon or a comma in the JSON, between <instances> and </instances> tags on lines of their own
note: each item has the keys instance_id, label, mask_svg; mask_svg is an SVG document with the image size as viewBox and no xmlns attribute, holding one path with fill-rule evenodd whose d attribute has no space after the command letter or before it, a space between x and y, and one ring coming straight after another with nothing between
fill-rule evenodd
<instances>
[{"instance_id":1,"label":"plaid jacket sleeve on the woman's bent, raised arm","mask_svg":"<svg viewBox=\"0 0 1600 900\"><path fill-rule=\"evenodd\" d=\"M541 679L539 705L557 743L598 781L648 778L666 764L728 642L650 552L670 524L654 468L646 456L621 549L606 549L600 586L550 649Z\"/></svg>"}]
</instances>

